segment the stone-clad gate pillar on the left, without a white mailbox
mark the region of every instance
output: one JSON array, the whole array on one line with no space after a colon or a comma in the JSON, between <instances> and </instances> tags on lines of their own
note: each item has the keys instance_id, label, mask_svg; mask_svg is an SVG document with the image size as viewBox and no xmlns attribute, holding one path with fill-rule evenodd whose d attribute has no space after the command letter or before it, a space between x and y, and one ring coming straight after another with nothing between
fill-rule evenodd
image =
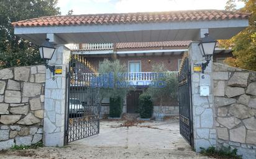
<instances>
[{"instance_id":1,"label":"stone-clad gate pillar on the left, without a white mailbox","mask_svg":"<svg viewBox=\"0 0 256 159\"><path fill-rule=\"evenodd\" d=\"M55 75L46 70L45 80L45 111L43 118L43 144L45 146L62 147L65 133L65 100L66 100L66 72L70 50L65 46L57 46L49 65L61 66L62 74Z\"/></svg>"}]
</instances>

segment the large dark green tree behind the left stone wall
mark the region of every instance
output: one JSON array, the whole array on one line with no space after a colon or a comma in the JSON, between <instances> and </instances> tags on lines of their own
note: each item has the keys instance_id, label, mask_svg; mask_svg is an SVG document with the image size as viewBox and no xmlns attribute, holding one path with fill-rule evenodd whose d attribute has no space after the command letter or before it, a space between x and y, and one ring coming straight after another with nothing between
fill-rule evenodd
<instances>
[{"instance_id":1,"label":"large dark green tree behind the left stone wall","mask_svg":"<svg viewBox=\"0 0 256 159\"><path fill-rule=\"evenodd\" d=\"M38 46L14 35L11 22L59 15L57 0L0 1L0 68L40 64Z\"/></svg>"}]
</instances>

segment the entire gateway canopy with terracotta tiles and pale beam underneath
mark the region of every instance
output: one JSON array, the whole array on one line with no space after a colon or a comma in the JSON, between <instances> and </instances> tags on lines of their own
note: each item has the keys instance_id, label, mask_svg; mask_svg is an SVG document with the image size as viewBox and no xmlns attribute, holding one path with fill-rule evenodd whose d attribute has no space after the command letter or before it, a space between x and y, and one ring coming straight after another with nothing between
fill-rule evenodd
<instances>
[{"instance_id":1,"label":"entire gateway canopy with terracotta tiles and pale beam underneath","mask_svg":"<svg viewBox=\"0 0 256 159\"><path fill-rule=\"evenodd\" d=\"M219 10L88 14L39 17L13 22L14 33L35 44L198 40L208 32L231 38L248 26L249 14ZM207 29L207 30L205 30Z\"/></svg>"}]
</instances>

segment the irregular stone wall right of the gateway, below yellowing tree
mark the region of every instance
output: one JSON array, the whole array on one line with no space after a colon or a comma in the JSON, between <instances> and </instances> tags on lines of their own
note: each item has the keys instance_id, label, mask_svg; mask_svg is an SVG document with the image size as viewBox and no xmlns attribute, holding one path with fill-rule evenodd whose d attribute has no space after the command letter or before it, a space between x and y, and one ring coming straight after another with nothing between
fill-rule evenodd
<instances>
[{"instance_id":1,"label":"irregular stone wall right of the gateway, below yellowing tree","mask_svg":"<svg viewBox=\"0 0 256 159\"><path fill-rule=\"evenodd\" d=\"M218 147L256 158L256 72L213 64Z\"/></svg>"}]
</instances>

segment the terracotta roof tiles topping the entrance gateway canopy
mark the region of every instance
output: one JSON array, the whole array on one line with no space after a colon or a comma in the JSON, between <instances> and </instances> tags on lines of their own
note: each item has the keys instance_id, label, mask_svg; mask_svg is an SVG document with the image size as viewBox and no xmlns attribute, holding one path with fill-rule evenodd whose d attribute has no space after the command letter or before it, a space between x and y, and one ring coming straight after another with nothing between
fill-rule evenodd
<instances>
[{"instance_id":1,"label":"terracotta roof tiles topping the entrance gateway canopy","mask_svg":"<svg viewBox=\"0 0 256 159\"><path fill-rule=\"evenodd\" d=\"M14 27L54 25L137 24L149 22L177 22L199 20L248 19L249 14L233 11L194 10L169 12L137 12L124 14L85 14L39 17L13 22Z\"/></svg>"}]
</instances>

